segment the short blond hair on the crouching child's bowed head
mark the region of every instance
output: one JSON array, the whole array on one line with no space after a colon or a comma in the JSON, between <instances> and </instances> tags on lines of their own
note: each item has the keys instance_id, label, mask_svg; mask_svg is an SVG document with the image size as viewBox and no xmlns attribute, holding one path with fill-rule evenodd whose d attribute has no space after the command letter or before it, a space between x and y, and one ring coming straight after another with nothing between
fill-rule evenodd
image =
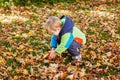
<instances>
[{"instance_id":1,"label":"short blond hair on the crouching child's bowed head","mask_svg":"<svg viewBox=\"0 0 120 80\"><path fill-rule=\"evenodd\" d=\"M47 30L55 30L56 28L61 28L61 21L56 16L50 16L44 24Z\"/></svg>"}]
</instances>

